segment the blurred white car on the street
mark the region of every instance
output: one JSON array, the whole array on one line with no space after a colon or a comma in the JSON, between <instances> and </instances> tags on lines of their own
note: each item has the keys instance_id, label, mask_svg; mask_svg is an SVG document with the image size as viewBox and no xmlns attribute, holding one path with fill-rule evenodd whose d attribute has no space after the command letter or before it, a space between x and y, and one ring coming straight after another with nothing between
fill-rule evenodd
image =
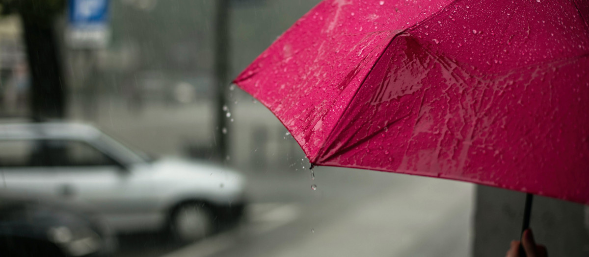
<instances>
[{"instance_id":1,"label":"blurred white car on the street","mask_svg":"<svg viewBox=\"0 0 589 257\"><path fill-rule=\"evenodd\" d=\"M81 201L117 232L202 238L243 214L244 177L211 164L154 160L92 126L0 125L0 187Z\"/></svg>"}]
</instances>

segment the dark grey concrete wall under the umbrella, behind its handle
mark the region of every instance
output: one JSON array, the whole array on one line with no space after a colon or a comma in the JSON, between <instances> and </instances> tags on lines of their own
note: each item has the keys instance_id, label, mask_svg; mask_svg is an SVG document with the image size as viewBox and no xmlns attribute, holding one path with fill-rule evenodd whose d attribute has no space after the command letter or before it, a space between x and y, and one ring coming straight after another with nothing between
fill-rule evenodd
<instances>
[{"instance_id":1,"label":"dark grey concrete wall under the umbrella, behind its handle","mask_svg":"<svg viewBox=\"0 0 589 257\"><path fill-rule=\"evenodd\" d=\"M472 256L505 256L509 242L519 239L524 202L521 192L477 187ZM549 256L589 256L585 205L535 196L530 226Z\"/></svg>"}]
</instances>

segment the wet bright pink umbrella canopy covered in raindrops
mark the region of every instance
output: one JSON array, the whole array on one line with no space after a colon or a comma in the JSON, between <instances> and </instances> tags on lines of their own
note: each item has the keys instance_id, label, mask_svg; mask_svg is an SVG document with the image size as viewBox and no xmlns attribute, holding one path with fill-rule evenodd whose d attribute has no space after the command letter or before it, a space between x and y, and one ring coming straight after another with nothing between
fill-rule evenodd
<instances>
[{"instance_id":1,"label":"wet bright pink umbrella canopy covered in raindrops","mask_svg":"<svg viewBox=\"0 0 589 257\"><path fill-rule=\"evenodd\" d=\"M235 80L311 163L589 204L587 1L326 0Z\"/></svg>"}]
</instances>

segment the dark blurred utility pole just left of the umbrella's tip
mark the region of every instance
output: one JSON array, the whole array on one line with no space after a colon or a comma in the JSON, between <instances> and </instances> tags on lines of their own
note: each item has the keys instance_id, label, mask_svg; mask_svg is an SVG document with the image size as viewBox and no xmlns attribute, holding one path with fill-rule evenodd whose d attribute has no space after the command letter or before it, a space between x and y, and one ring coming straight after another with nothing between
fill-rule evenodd
<instances>
[{"instance_id":1,"label":"dark blurred utility pole just left of the umbrella's tip","mask_svg":"<svg viewBox=\"0 0 589 257\"><path fill-rule=\"evenodd\" d=\"M223 110L223 107L227 104L226 88L229 84L229 0L216 0L215 2L215 141L217 156L222 161L227 158L227 154L229 153L229 142L227 140L227 131L229 131L229 128L227 127L227 117Z\"/></svg>"}]
</instances>

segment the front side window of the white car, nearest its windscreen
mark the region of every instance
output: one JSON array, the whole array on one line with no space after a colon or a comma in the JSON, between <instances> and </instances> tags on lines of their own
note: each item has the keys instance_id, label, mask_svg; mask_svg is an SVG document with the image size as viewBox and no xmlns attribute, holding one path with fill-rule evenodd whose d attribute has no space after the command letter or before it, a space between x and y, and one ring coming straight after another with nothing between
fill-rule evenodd
<instances>
[{"instance_id":1,"label":"front side window of the white car, nearest its windscreen","mask_svg":"<svg viewBox=\"0 0 589 257\"><path fill-rule=\"evenodd\" d=\"M46 144L52 166L116 165L112 158L82 141L48 140Z\"/></svg>"}]
</instances>

